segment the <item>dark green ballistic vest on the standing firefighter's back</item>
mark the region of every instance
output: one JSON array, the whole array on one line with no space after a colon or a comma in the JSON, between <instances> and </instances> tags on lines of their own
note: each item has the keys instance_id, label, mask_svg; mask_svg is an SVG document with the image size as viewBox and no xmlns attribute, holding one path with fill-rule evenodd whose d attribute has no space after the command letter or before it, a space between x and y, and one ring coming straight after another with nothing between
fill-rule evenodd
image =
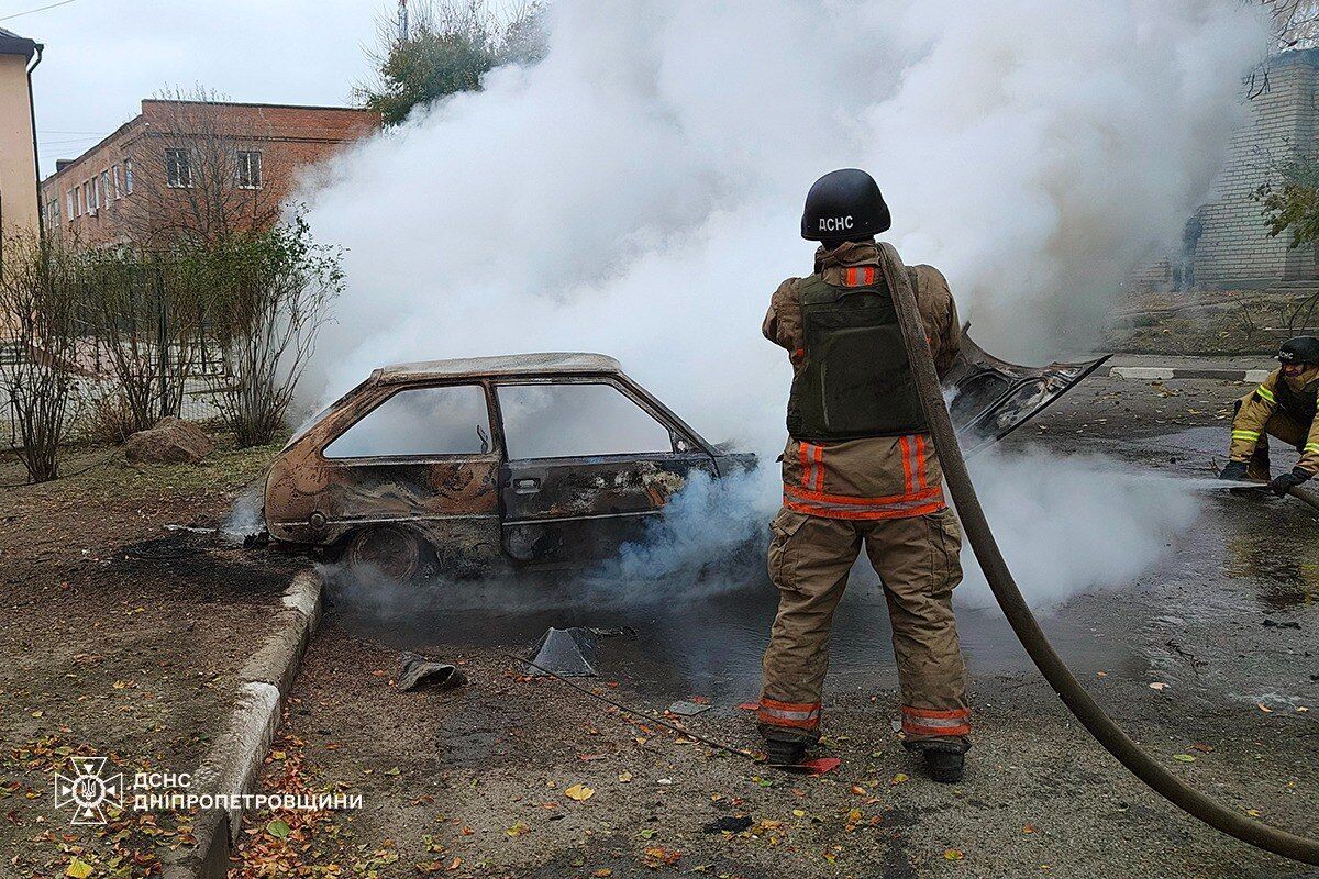
<instances>
[{"instance_id":1,"label":"dark green ballistic vest on the standing firefighter's back","mask_svg":"<svg viewBox=\"0 0 1319 879\"><path fill-rule=\"evenodd\" d=\"M787 398L787 432L799 440L851 440L926 432L898 315L878 271L873 283L798 282L805 357Z\"/></svg>"}]
</instances>

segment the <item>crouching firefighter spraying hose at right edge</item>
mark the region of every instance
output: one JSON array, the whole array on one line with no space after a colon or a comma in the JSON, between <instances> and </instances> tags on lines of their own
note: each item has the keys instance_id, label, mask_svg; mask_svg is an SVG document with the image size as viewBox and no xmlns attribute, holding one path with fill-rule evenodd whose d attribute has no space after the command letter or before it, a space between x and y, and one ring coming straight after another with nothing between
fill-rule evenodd
<instances>
[{"instance_id":1,"label":"crouching firefighter spraying hose at right edge","mask_svg":"<svg viewBox=\"0 0 1319 879\"><path fill-rule=\"evenodd\" d=\"M1298 336L1282 343L1282 366L1264 383L1236 402L1232 419L1232 459L1219 473L1224 480L1268 480L1269 435L1301 452L1291 470L1269 482L1278 497L1319 473L1319 339Z\"/></svg>"}]
</instances>

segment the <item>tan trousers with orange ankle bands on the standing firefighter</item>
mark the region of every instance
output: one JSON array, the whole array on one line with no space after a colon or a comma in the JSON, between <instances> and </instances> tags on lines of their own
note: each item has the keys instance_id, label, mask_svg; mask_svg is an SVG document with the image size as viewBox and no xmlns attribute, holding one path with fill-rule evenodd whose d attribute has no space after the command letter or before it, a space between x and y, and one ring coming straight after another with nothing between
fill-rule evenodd
<instances>
[{"instance_id":1,"label":"tan trousers with orange ankle bands on the standing firefighter","mask_svg":"<svg viewBox=\"0 0 1319 879\"><path fill-rule=\"evenodd\" d=\"M905 743L969 747L967 671L952 617L952 589L962 581L962 528L952 510L856 521L783 509L770 530L769 576L780 602L765 651L761 734L819 738L834 610L864 542L888 600Z\"/></svg>"}]
</instances>

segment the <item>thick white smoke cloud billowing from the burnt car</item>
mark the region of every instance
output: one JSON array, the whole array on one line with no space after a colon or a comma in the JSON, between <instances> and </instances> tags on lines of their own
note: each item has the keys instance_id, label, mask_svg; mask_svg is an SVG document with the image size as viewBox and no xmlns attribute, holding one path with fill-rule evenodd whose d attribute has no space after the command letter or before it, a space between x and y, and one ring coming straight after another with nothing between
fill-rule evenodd
<instances>
[{"instance_id":1,"label":"thick white smoke cloud billowing from the burnt car","mask_svg":"<svg viewBox=\"0 0 1319 879\"><path fill-rule=\"evenodd\" d=\"M392 361L600 351L769 464L790 369L761 318L810 271L806 188L844 166L878 179L889 240L946 273L983 347L1083 351L1207 195L1268 47L1239 0L557 0L549 32L541 65L415 112L305 194L348 249L306 403ZM991 518L1046 604L1091 579L1078 540L1124 577L1187 521L1153 503L1124 523L1130 486L1097 467L997 463L1022 478L977 467ZM1082 486L1095 503L1064 499Z\"/></svg>"}]
</instances>

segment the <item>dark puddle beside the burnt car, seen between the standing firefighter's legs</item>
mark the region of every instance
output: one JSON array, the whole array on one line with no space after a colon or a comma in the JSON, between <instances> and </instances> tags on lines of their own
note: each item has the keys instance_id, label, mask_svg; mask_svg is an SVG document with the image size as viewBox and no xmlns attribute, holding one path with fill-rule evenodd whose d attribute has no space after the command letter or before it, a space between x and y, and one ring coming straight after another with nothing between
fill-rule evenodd
<instances>
[{"instance_id":1,"label":"dark puddle beside the burnt car, seen between the standing firefighter's legs","mask_svg":"<svg viewBox=\"0 0 1319 879\"><path fill-rule=\"evenodd\" d=\"M503 584L499 605L489 608L455 609L437 602L383 617L361 604L340 600L335 613L351 631L400 650L438 656L489 646L520 654L550 626L628 629L634 635L600 639L598 668L605 680L625 677L632 685L666 695L700 693L739 701L758 692L761 656L777 609L777 593L762 576L700 600L625 605L553 601L550 608L536 609L546 600L545 584L528 581L521 584L526 590L524 604L533 609L522 609L509 600L508 590L516 588ZM1117 650L1101 634L1074 621L1055 618L1046 625L1068 660L1084 667L1103 667ZM997 609L959 610L958 627L973 675L1030 668ZM888 608L873 575L853 576L835 617L830 654L831 688L896 685Z\"/></svg>"}]
</instances>

